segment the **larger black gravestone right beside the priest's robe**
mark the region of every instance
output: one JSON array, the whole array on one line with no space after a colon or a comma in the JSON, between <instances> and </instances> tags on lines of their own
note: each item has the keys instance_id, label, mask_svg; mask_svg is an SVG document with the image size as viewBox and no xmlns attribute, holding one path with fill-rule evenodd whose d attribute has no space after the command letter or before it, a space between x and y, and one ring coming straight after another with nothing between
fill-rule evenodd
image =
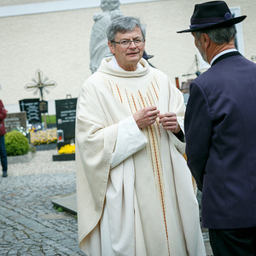
<instances>
[{"instance_id":1,"label":"larger black gravestone right beside the priest's robe","mask_svg":"<svg viewBox=\"0 0 256 256\"><path fill-rule=\"evenodd\" d=\"M64 141L71 141L75 137L77 98L56 100L57 130L63 130Z\"/></svg>"}]
</instances>

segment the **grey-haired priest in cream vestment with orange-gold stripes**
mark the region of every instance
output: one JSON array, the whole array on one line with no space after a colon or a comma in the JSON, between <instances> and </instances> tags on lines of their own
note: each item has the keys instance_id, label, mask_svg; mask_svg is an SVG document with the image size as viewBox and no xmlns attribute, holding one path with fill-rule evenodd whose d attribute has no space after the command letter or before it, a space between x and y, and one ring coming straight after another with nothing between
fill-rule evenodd
<instances>
[{"instance_id":1,"label":"grey-haired priest in cream vestment with orange-gold stripes","mask_svg":"<svg viewBox=\"0 0 256 256\"><path fill-rule=\"evenodd\" d=\"M79 94L79 247L91 256L206 255L183 158L183 95L142 59L144 32L136 18L113 20L113 57Z\"/></svg>"}]
</instances>

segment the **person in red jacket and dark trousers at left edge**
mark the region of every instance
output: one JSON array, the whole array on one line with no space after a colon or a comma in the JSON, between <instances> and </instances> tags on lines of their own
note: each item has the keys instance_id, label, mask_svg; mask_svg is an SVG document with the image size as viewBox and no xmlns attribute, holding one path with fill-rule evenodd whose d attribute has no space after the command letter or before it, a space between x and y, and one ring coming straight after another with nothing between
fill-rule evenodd
<instances>
[{"instance_id":1,"label":"person in red jacket and dark trousers at left edge","mask_svg":"<svg viewBox=\"0 0 256 256\"><path fill-rule=\"evenodd\" d=\"M0 100L0 156L3 169L3 177L7 177L7 153L5 149L4 134L6 133L4 127L4 119L7 116L7 110L3 106L3 102Z\"/></svg>"}]
</instances>

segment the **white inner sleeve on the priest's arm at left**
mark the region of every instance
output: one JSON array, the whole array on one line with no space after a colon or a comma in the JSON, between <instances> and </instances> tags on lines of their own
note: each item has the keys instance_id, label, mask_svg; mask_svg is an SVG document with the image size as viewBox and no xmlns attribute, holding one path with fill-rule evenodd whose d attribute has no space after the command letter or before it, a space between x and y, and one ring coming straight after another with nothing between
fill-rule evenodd
<instances>
[{"instance_id":1,"label":"white inner sleeve on the priest's arm at left","mask_svg":"<svg viewBox=\"0 0 256 256\"><path fill-rule=\"evenodd\" d=\"M120 162L144 148L147 143L147 137L138 128L132 115L120 121L110 167L118 166Z\"/></svg>"}]
</instances>

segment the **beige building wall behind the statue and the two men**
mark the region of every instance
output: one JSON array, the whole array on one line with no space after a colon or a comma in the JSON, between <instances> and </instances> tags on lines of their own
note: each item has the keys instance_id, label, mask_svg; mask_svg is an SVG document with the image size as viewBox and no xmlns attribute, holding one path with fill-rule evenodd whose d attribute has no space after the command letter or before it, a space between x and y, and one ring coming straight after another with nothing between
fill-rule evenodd
<instances>
[{"instance_id":1,"label":"beige building wall behind the statue and the two men","mask_svg":"<svg viewBox=\"0 0 256 256\"><path fill-rule=\"evenodd\" d=\"M84 0L86 1L86 0ZM44 3L37 0L1 0L0 9L10 4ZM52 1L54 2L54 1ZM163 0L146 3L122 4L124 15L141 18L147 28L146 50L154 55L150 62L166 73L172 83L194 79L194 39L190 33L177 34L189 28L189 19L195 0ZM227 0L230 8L240 7L244 55L251 59L256 55L255 0ZM52 12L36 15L18 15L0 18L0 98L10 112L19 111L18 102L25 98L39 97L24 89L32 83L35 72L40 69L57 86L49 89L45 100L52 109L54 100L79 95L84 80L90 76L90 32L94 24L93 15L102 9L89 8ZM202 70L203 71L203 70ZM49 109L50 112L50 109Z\"/></svg>"}]
</instances>

